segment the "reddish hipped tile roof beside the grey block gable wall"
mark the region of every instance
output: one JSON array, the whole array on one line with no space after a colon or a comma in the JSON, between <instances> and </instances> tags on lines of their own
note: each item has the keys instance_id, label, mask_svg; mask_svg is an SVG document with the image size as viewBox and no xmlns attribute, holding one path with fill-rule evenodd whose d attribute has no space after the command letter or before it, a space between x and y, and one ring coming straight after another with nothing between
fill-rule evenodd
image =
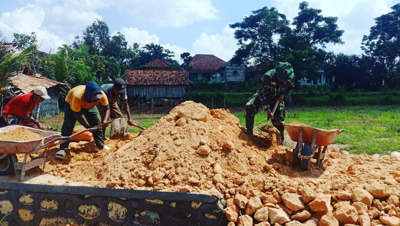
<instances>
[{"instance_id":1,"label":"reddish hipped tile roof beside the grey block gable wall","mask_svg":"<svg viewBox=\"0 0 400 226\"><path fill-rule=\"evenodd\" d=\"M208 54L196 54L194 55L190 65L193 66L193 71L207 71L207 70L218 70L226 64L225 61L219 59L214 55ZM182 64L184 65L184 63Z\"/></svg>"}]
</instances>

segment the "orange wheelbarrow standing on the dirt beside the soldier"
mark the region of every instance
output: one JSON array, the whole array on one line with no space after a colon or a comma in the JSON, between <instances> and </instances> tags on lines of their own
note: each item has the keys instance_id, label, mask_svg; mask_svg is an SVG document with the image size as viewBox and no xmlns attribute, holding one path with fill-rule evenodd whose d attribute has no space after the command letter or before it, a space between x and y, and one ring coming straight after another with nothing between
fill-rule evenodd
<instances>
[{"instance_id":1,"label":"orange wheelbarrow standing on the dirt beside the soldier","mask_svg":"<svg viewBox=\"0 0 400 226\"><path fill-rule=\"evenodd\" d=\"M324 130L310 126L284 124L290 139L297 142L294 153L298 153L302 171L310 169L310 159L317 159L316 165L321 167L325 151L343 129ZM304 143L304 146L303 146ZM318 152L317 152L318 150ZM315 155L315 153L317 153ZM314 156L315 155L315 156Z\"/></svg>"}]
</instances>

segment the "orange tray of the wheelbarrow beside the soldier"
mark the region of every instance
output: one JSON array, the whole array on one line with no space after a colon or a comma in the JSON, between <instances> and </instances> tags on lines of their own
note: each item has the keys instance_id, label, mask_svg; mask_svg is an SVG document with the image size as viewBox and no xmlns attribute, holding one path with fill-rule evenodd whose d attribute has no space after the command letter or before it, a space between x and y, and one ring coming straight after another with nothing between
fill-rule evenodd
<instances>
[{"instance_id":1,"label":"orange tray of the wheelbarrow beside the soldier","mask_svg":"<svg viewBox=\"0 0 400 226\"><path fill-rule=\"evenodd\" d=\"M312 142L314 136L314 130L317 130L316 145L328 146L330 145L336 137L340 134L340 130L324 130L318 129L310 126L299 126L284 124L286 131L288 132L290 139L295 142L299 142L299 128L302 127L302 142Z\"/></svg>"}]
</instances>

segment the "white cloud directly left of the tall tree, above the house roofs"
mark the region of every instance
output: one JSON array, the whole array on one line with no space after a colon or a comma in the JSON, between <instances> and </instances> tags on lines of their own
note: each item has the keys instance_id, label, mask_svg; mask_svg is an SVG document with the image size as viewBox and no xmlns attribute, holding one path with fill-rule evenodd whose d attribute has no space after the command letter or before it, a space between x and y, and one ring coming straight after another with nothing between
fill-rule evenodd
<instances>
[{"instance_id":1,"label":"white cloud directly left of the tall tree, above the house roofs","mask_svg":"<svg viewBox=\"0 0 400 226\"><path fill-rule=\"evenodd\" d=\"M224 61L229 61L238 49L237 40L233 37L234 31L235 29L226 25L222 34L207 35L203 32L192 44L194 53L212 54Z\"/></svg>"}]
</instances>

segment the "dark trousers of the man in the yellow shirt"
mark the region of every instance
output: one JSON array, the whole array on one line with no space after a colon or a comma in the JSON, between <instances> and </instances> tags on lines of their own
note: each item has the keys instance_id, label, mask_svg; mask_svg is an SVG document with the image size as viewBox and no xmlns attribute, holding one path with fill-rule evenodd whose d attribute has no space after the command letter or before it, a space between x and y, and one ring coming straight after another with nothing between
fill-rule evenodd
<instances>
[{"instance_id":1,"label":"dark trousers of the man in the yellow shirt","mask_svg":"<svg viewBox=\"0 0 400 226\"><path fill-rule=\"evenodd\" d=\"M97 110L96 106L93 106L88 109L82 108L79 112L81 115L84 115L86 121L88 122L89 126L98 126L101 124L100 113ZM71 136L72 132L74 131L76 123L76 118L72 113L71 106L68 103L65 103L65 110L64 110L64 122L62 123L61 128L61 136ZM96 143L97 147L104 145L104 138L102 130L97 130L93 132L94 143ZM70 145L69 141L65 141L64 143L60 144L60 150L65 150Z\"/></svg>"}]
</instances>

